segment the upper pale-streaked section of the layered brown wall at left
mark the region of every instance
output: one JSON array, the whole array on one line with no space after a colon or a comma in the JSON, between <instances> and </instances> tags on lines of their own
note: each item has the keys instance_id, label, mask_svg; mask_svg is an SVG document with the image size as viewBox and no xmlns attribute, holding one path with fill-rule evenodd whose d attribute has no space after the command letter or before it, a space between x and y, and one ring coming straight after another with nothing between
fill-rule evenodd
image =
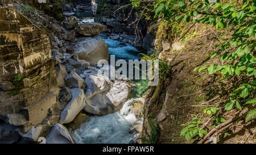
<instances>
[{"instance_id":1,"label":"upper pale-streaked section of the layered brown wall at left","mask_svg":"<svg viewBox=\"0 0 256 155\"><path fill-rule=\"evenodd\" d=\"M48 36L14 10L0 9L0 76L26 73L32 66L51 59Z\"/></svg>"}]
</instances>

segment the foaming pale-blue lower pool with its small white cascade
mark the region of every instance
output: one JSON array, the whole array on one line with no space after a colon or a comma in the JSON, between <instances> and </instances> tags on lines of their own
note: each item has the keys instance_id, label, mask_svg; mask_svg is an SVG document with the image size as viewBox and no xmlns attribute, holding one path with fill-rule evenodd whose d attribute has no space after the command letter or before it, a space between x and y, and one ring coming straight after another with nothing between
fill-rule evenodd
<instances>
[{"instance_id":1,"label":"foaming pale-blue lower pool with its small white cascade","mask_svg":"<svg viewBox=\"0 0 256 155\"><path fill-rule=\"evenodd\" d=\"M130 99L123 108L114 113L105 116L92 116L85 123L82 123L78 129L71 134L76 143L81 144L128 144L130 140L138 136L138 133L129 133L131 124L142 122L137 120L131 110Z\"/></svg>"}]
</instances>

